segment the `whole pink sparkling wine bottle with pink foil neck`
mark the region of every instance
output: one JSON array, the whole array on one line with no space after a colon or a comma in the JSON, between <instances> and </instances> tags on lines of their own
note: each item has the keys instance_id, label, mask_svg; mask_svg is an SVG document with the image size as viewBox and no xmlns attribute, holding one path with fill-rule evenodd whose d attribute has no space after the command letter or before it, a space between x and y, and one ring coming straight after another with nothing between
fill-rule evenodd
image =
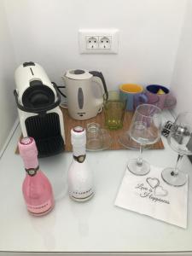
<instances>
[{"instance_id":1,"label":"whole pink sparkling wine bottle with pink foil neck","mask_svg":"<svg viewBox=\"0 0 192 256\"><path fill-rule=\"evenodd\" d=\"M27 210L44 215L54 207L54 197L49 179L39 170L36 143L32 137L24 137L18 145L26 169L22 190Z\"/></svg>"}]
</instances>

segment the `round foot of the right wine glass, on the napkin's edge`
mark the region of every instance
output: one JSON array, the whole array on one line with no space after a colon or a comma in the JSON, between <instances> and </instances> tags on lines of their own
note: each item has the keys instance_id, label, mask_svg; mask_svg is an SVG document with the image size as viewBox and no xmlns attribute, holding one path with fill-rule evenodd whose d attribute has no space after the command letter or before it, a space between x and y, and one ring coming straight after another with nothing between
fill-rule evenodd
<instances>
[{"instance_id":1,"label":"round foot of the right wine glass, on the napkin's edge","mask_svg":"<svg viewBox=\"0 0 192 256\"><path fill-rule=\"evenodd\" d=\"M184 172L179 171L174 174L174 168L172 167L164 169L161 172L161 177L166 183L175 187L183 186L188 180L188 176Z\"/></svg>"}]
</instances>

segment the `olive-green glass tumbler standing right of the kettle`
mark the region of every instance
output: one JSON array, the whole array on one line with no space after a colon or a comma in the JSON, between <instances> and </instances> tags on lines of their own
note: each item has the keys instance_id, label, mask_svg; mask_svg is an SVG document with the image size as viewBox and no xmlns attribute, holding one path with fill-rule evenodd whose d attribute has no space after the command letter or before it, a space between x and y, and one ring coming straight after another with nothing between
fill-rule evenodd
<instances>
[{"instance_id":1,"label":"olive-green glass tumbler standing right of the kettle","mask_svg":"<svg viewBox=\"0 0 192 256\"><path fill-rule=\"evenodd\" d=\"M109 90L103 95L103 109L105 125L109 130L118 130L123 127L126 100L119 91Z\"/></svg>"}]
</instances>

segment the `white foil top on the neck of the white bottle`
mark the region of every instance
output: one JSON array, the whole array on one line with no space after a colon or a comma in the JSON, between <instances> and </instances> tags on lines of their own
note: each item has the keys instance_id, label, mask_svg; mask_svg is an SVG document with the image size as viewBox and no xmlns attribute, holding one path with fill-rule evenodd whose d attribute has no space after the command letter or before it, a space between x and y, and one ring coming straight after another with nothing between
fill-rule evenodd
<instances>
[{"instance_id":1,"label":"white foil top on the neck of the white bottle","mask_svg":"<svg viewBox=\"0 0 192 256\"><path fill-rule=\"evenodd\" d=\"M86 144L86 131L81 126L76 126L71 130L72 145L84 146Z\"/></svg>"}]
</instances>

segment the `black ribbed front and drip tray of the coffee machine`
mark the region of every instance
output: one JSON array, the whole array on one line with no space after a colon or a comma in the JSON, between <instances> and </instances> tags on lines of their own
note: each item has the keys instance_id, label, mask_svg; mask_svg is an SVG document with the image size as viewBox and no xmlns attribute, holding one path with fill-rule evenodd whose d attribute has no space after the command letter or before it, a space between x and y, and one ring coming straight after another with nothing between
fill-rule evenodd
<instances>
[{"instance_id":1,"label":"black ribbed front and drip tray of the coffee machine","mask_svg":"<svg viewBox=\"0 0 192 256\"><path fill-rule=\"evenodd\" d=\"M57 113L33 115L25 121L29 137L35 137L38 157L59 154L65 150Z\"/></svg>"}]
</instances>

